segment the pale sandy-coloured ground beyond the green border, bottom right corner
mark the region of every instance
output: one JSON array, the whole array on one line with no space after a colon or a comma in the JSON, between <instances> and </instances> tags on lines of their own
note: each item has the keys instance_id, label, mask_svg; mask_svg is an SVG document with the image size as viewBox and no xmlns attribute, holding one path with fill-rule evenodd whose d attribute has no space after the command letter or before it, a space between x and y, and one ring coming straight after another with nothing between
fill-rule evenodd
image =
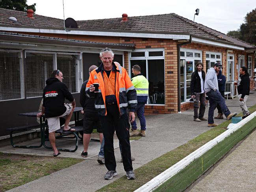
<instances>
[{"instance_id":1,"label":"pale sandy-coloured ground beyond the green border, bottom right corner","mask_svg":"<svg viewBox=\"0 0 256 192\"><path fill-rule=\"evenodd\" d=\"M190 192L256 191L256 131L189 188Z\"/></svg>"}]
</instances>

